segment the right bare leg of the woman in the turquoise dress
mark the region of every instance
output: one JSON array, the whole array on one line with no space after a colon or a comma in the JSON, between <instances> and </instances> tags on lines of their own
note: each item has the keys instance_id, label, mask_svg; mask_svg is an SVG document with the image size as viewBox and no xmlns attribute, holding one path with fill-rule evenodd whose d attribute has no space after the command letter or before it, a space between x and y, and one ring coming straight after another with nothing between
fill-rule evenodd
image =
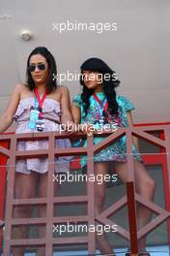
<instances>
[{"instance_id":1,"label":"right bare leg of the woman in the turquoise dress","mask_svg":"<svg viewBox=\"0 0 170 256\"><path fill-rule=\"evenodd\" d=\"M128 180L128 164L114 163L114 171L123 180L124 183ZM153 201L155 195L155 181L149 176L144 165L137 160L134 160L135 184L136 192L144 199ZM142 205L137 205L137 220L138 227L145 226L151 219L152 213ZM146 237L138 241L139 250L144 249Z\"/></svg>"}]
</instances>

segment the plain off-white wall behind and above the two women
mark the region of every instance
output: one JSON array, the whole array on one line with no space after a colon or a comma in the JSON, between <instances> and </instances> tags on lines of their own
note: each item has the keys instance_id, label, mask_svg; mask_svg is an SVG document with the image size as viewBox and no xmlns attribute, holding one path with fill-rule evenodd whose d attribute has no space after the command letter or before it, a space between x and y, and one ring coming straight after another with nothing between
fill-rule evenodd
<instances>
[{"instance_id":1,"label":"plain off-white wall behind and above the two women","mask_svg":"<svg viewBox=\"0 0 170 256\"><path fill-rule=\"evenodd\" d=\"M1 0L0 112L14 84L24 80L30 51L46 46L59 72L77 71L91 56L103 58L122 80L118 92L136 105L135 122L169 121L169 7L168 0ZM53 22L68 19L117 22L118 30L101 34L52 30ZM25 28L33 32L30 42L19 38ZM71 95L80 91L77 81L66 84Z\"/></svg>"}]
</instances>

